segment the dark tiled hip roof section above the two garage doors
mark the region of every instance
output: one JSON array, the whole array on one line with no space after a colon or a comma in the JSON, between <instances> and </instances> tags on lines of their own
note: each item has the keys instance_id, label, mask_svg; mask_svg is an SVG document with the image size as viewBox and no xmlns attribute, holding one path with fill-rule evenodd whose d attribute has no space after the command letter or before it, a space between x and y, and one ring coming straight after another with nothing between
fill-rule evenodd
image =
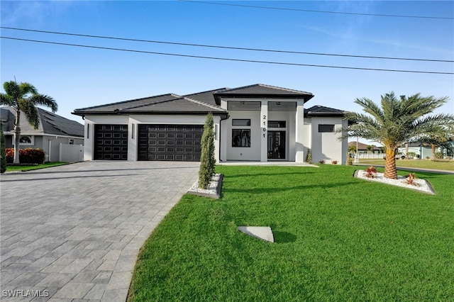
<instances>
[{"instance_id":1,"label":"dark tiled hip roof section above the two garage doors","mask_svg":"<svg viewBox=\"0 0 454 302\"><path fill-rule=\"evenodd\" d=\"M84 116L85 114L150 114L150 113L172 113L172 114L206 114L206 113L226 113L225 110L216 105L211 105L177 94L162 94L160 96L150 96L143 99L131 101L121 101L118 103L93 106L75 109L73 114Z\"/></svg>"}]
</instances>

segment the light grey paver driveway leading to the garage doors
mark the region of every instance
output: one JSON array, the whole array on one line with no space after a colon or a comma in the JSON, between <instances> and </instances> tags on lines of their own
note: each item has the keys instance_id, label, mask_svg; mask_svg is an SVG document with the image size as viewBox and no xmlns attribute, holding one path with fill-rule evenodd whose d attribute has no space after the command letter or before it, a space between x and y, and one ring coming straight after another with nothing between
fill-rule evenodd
<instances>
[{"instance_id":1,"label":"light grey paver driveway leading to the garage doors","mask_svg":"<svg viewBox=\"0 0 454 302\"><path fill-rule=\"evenodd\" d=\"M125 301L140 247L198 171L99 161L2 174L1 301Z\"/></svg>"}]
</instances>

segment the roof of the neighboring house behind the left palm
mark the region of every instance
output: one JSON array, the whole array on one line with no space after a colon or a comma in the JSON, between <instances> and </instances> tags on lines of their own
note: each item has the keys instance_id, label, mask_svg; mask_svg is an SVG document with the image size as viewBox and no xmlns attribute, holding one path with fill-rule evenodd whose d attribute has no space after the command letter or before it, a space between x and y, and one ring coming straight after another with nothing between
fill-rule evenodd
<instances>
[{"instance_id":1,"label":"roof of the neighboring house behind the left palm","mask_svg":"<svg viewBox=\"0 0 454 302\"><path fill-rule=\"evenodd\" d=\"M12 107L1 107L0 116L2 128L5 133L12 133L14 129L14 120L16 111ZM67 135L75 137L84 137L84 125L72 121L55 113L38 108L40 125L38 129L28 123L24 113L21 114L21 133L23 135Z\"/></svg>"}]
</instances>

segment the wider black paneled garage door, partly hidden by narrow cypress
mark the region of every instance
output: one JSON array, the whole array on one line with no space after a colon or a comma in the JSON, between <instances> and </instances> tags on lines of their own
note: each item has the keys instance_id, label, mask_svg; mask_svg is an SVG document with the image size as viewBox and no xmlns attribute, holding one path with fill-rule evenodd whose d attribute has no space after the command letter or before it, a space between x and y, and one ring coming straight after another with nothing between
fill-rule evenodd
<instances>
[{"instance_id":1,"label":"wider black paneled garage door, partly hidden by narrow cypress","mask_svg":"<svg viewBox=\"0 0 454 302\"><path fill-rule=\"evenodd\" d=\"M200 161L204 125L138 125L138 160Z\"/></svg>"}]
</instances>

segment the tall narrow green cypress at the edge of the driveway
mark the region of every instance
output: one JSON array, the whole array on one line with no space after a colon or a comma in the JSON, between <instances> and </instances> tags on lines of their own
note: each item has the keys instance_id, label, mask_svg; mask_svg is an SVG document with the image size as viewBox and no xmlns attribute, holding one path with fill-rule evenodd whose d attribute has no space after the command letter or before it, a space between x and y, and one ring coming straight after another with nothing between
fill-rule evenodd
<instances>
[{"instance_id":1,"label":"tall narrow green cypress at the edge of the driveway","mask_svg":"<svg viewBox=\"0 0 454 302\"><path fill-rule=\"evenodd\" d=\"M214 175L216 159L214 158L214 121L213 114L208 113L205 119L204 134L201 136L201 156L199 169L199 188L208 188Z\"/></svg>"}]
</instances>

